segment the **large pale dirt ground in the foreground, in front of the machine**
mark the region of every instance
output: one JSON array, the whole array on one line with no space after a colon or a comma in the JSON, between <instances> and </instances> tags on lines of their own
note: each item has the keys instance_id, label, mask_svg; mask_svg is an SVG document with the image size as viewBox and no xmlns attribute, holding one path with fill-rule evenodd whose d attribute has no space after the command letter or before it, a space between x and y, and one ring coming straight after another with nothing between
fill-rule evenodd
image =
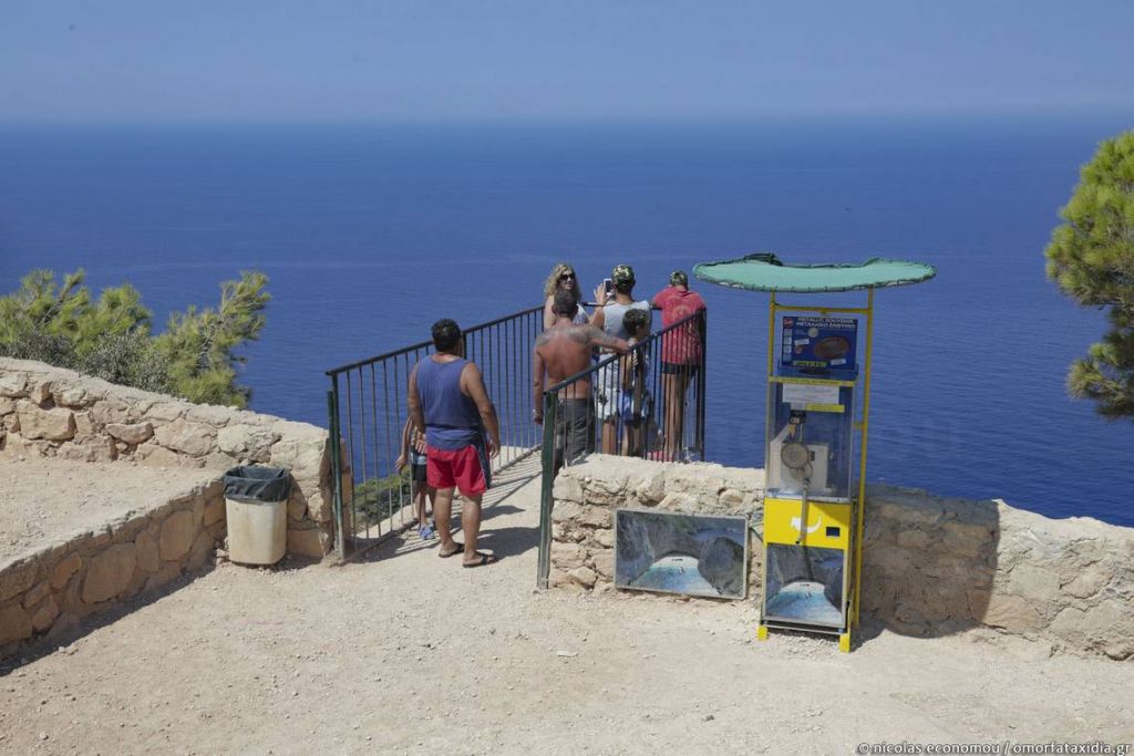
<instances>
[{"instance_id":1,"label":"large pale dirt ground in the foreground, in front of the machine","mask_svg":"<svg viewBox=\"0 0 1134 756\"><path fill-rule=\"evenodd\" d=\"M850 754L1134 740L1134 664L974 634L754 639L748 602L533 589L538 479L463 569L414 536L346 567L225 564L0 670L0 751ZM518 477L517 477L518 476ZM523 484L523 485L521 485Z\"/></svg>"}]
</instances>

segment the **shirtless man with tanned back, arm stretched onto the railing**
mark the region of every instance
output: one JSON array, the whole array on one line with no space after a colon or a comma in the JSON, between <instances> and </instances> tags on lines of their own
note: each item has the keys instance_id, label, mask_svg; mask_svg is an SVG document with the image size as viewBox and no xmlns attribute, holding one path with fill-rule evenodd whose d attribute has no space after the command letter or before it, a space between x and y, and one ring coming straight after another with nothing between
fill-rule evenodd
<instances>
[{"instance_id":1,"label":"shirtless man with tanned back, arm stretched onto the railing","mask_svg":"<svg viewBox=\"0 0 1134 756\"><path fill-rule=\"evenodd\" d=\"M591 366L591 350L602 347L619 355L629 348L594 325L575 325L578 303L574 292L560 289L551 303L555 324L535 340L532 352L532 400L536 425L543 424L543 390L582 373ZM544 375L547 380L544 381ZM570 465L594 449L594 422L591 405L591 375L587 374L559 391L556 406L555 469Z\"/></svg>"}]
</instances>

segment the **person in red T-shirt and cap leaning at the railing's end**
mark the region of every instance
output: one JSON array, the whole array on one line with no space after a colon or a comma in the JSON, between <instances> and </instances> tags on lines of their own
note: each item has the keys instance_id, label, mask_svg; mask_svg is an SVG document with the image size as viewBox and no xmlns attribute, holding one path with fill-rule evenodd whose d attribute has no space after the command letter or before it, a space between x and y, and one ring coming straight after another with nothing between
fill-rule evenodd
<instances>
[{"instance_id":1,"label":"person in red T-shirt and cap leaning at the railing's end","mask_svg":"<svg viewBox=\"0 0 1134 756\"><path fill-rule=\"evenodd\" d=\"M653 306L661 309L661 328L669 328L705 309L705 301L696 291L689 291L689 278L684 271L674 271L669 286L653 298ZM661 459L675 459L682 447L685 419L685 392L701 366L701 330L692 320L661 337L661 390L666 406Z\"/></svg>"}]
</instances>

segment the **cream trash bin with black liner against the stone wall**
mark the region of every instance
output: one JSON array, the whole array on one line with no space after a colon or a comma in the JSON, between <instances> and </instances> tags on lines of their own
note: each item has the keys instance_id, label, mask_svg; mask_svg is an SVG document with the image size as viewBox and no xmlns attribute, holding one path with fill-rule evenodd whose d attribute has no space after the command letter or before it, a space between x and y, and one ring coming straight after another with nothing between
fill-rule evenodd
<instances>
[{"instance_id":1,"label":"cream trash bin with black liner against the stone wall","mask_svg":"<svg viewBox=\"0 0 1134 756\"><path fill-rule=\"evenodd\" d=\"M228 558L244 564L274 564L287 547L287 498L282 467L234 467L225 473Z\"/></svg>"}]
</instances>

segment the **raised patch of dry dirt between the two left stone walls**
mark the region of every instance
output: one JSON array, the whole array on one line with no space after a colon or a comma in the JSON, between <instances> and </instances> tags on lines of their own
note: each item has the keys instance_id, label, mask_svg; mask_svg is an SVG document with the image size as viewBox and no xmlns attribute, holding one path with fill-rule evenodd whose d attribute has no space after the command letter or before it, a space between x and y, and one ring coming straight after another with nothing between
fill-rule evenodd
<instances>
[{"instance_id":1,"label":"raised patch of dry dirt between the two left stone walls","mask_svg":"<svg viewBox=\"0 0 1134 756\"><path fill-rule=\"evenodd\" d=\"M68 534L161 507L215 470L57 459L0 460L0 564Z\"/></svg>"}]
</instances>

